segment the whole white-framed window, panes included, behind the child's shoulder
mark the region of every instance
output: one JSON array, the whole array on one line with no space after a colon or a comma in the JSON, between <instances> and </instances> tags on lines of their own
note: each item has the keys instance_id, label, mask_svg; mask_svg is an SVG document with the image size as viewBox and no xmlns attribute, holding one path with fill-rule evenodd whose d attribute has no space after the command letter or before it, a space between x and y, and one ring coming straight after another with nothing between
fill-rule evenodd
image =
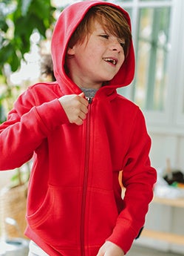
<instances>
[{"instance_id":1,"label":"whole white-framed window, panes included, behind the child's shoulder","mask_svg":"<svg viewBox=\"0 0 184 256\"><path fill-rule=\"evenodd\" d=\"M184 134L184 1L114 1L132 19L136 73L119 92L143 110L150 129Z\"/></svg>"}]
</instances>

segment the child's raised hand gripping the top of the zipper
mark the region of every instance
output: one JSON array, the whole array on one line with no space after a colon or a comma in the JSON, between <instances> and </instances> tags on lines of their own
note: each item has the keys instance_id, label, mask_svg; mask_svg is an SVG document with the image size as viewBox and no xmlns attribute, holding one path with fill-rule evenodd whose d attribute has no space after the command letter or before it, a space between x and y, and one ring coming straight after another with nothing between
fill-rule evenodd
<instances>
[{"instance_id":1,"label":"child's raised hand gripping the top of the zipper","mask_svg":"<svg viewBox=\"0 0 184 256\"><path fill-rule=\"evenodd\" d=\"M84 119L86 119L86 114L88 112L87 106L89 104L84 98L84 93L62 96L59 99L59 102L64 108L69 122L75 123L76 125L83 124Z\"/></svg>"}]
</instances>

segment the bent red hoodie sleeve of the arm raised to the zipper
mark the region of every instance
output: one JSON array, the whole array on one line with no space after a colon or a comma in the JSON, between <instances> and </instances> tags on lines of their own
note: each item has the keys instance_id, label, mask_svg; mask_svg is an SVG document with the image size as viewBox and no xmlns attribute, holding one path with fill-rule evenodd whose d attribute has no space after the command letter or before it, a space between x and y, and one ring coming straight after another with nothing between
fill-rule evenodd
<instances>
[{"instance_id":1,"label":"bent red hoodie sleeve of the arm raised to the zipper","mask_svg":"<svg viewBox=\"0 0 184 256\"><path fill-rule=\"evenodd\" d=\"M0 125L1 171L26 163L53 129L69 122L58 99L38 105L35 98L35 91L27 89Z\"/></svg>"}]
</instances>

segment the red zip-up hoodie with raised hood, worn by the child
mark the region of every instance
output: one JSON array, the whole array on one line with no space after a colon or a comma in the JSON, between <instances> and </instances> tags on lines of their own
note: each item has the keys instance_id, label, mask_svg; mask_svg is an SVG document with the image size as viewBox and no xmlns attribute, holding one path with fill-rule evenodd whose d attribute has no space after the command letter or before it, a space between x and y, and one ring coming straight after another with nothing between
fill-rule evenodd
<instances>
[{"instance_id":1,"label":"red zip-up hoodie with raised hood, worn by the child","mask_svg":"<svg viewBox=\"0 0 184 256\"><path fill-rule=\"evenodd\" d=\"M28 88L0 126L1 170L33 157L25 234L51 256L95 256L106 240L126 253L144 224L156 181L143 114L116 91L134 77L132 42L117 75L90 102L83 125L69 123L58 101L81 93L65 73L65 55L75 28L96 4L117 7L82 1L61 13L52 36L56 82Z\"/></svg>"}]
</instances>

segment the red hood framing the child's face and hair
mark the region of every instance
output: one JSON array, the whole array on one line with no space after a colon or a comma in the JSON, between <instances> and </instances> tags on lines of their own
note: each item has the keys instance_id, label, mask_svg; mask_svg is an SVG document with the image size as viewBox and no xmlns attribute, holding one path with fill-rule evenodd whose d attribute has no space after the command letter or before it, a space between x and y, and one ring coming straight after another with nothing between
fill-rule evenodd
<instances>
[{"instance_id":1,"label":"red hood framing the child's face and hair","mask_svg":"<svg viewBox=\"0 0 184 256\"><path fill-rule=\"evenodd\" d=\"M98 4L107 4L112 7L117 7L122 13L125 14L127 22L131 27L129 14L120 6L106 1L80 1L66 7L58 21L55 24L55 29L52 34L51 53L53 61L53 69L55 78L61 86L64 93L80 93L79 88L67 76L64 70L65 56L67 53L67 45L72 33L75 31L78 24L84 18L87 11ZM109 84L104 87L120 88L129 85L134 78L134 47L132 41L130 42L129 54L123 62L120 70L116 76L109 81Z\"/></svg>"}]
</instances>

